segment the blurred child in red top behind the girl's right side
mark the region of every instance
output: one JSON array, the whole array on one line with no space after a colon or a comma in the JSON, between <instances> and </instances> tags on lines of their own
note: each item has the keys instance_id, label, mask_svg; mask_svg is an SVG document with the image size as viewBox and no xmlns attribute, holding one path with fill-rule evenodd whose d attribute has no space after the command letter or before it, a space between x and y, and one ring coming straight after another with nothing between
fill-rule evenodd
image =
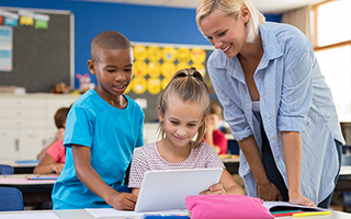
<instances>
[{"instance_id":1,"label":"blurred child in red top behind the girl's right side","mask_svg":"<svg viewBox=\"0 0 351 219\"><path fill-rule=\"evenodd\" d=\"M218 154L227 154L228 140L217 128L219 120L222 120L222 107L216 103L211 103L210 113L205 118L206 132L203 141L212 146Z\"/></svg>"}]
</instances>

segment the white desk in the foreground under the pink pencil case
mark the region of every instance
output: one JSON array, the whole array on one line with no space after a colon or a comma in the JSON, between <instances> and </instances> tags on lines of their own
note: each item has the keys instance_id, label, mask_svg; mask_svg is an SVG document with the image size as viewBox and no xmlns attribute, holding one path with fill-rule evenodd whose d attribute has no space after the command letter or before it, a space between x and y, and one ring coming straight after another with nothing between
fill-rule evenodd
<instances>
[{"instance_id":1,"label":"white desk in the foreground under the pink pencil case","mask_svg":"<svg viewBox=\"0 0 351 219\"><path fill-rule=\"evenodd\" d=\"M18 217L11 217L13 219L22 219L22 218L27 218L30 214L37 214L37 216L43 216L42 218L44 219L45 214L54 214L57 218L59 219L94 219L92 215L90 215L87 210L84 209L79 209L79 210L24 210L24 211L8 211L8 212L0 212L0 218L1 216L10 216L10 215L16 215ZM25 217L26 216L26 217ZM36 217L39 219L39 217ZM121 217L112 217L112 218L121 218ZM124 217L123 217L124 218ZM131 218L131 217L128 217ZM304 217L302 219L351 219L351 214L346 214L346 212L340 212L340 211L335 211L331 210L331 215L329 216L313 216L313 217ZM138 217L135 217L135 219L138 219ZM293 219L292 216L288 217L280 217L280 219Z\"/></svg>"}]
</instances>

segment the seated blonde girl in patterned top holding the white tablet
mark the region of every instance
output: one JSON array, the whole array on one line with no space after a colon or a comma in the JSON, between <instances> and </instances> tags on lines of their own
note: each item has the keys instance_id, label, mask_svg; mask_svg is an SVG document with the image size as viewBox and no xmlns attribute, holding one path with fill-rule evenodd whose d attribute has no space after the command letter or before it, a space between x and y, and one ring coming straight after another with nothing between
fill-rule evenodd
<instances>
[{"instance_id":1,"label":"seated blonde girl in patterned top holding the white tablet","mask_svg":"<svg viewBox=\"0 0 351 219\"><path fill-rule=\"evenodd\" d=\"M201 73L194 68L178 71L159 99L162 139L144 146L133 155L128 187L134 195L138 196L146 171L224 168L216 151L201 142L208 105L208 90ZM224 169L219 183L202 194L244 195L244 191Z\"/></svg>"}]
</instances>

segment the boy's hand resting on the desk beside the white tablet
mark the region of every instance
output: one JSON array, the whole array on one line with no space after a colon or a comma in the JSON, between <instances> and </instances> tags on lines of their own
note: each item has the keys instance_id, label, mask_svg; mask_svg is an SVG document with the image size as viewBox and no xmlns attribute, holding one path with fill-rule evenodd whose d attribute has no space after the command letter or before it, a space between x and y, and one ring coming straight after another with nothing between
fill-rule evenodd
<instances>
[{"instance_id":1,"label":"boy's hand resting on the desk beside the white tablet","mask_svg":"<svg viewBox=\"0 0 351 219\"><path fill-rule=\"evenodd\" d=\"M117 210L134 210L137 197L132 193L115 193L109 205Z\"/></svg>"}]
</instances>

